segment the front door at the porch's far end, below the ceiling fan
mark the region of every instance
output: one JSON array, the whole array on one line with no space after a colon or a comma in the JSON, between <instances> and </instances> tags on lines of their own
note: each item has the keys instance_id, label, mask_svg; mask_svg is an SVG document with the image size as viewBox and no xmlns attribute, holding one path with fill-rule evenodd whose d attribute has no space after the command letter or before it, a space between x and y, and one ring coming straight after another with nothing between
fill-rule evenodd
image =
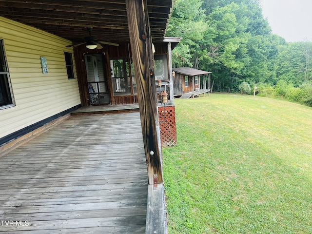
<instances>
[{"instance_id":1,"label":"front door at the porch's far end, below the ceiling fan","mask_svg":"<svg viewBox=\"0 0 312 234\"><path fill-rule=\"evenodd\" d=\"M90 105L110 104L111 100L103 55L84 55L84 60L88 79Z\"/></svg>"}]
</instances>

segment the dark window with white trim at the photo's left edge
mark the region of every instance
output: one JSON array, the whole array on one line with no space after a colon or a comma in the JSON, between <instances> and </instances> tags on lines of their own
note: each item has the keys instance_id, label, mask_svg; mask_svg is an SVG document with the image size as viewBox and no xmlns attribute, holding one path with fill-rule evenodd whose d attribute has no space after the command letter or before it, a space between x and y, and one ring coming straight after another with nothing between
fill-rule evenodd
<instances>
[{"instance_id":1,"label":"dark window with white trim at the photo's left edge","mask_svg":"<svg viewBox=\"0 0 312 234\"><path fill-rule=\"evenodd\" d=\"M0 39L0 109L13 105L14 98L11 90L10 74L5 58L3 40Z\"/></svg>"}]
</instances>

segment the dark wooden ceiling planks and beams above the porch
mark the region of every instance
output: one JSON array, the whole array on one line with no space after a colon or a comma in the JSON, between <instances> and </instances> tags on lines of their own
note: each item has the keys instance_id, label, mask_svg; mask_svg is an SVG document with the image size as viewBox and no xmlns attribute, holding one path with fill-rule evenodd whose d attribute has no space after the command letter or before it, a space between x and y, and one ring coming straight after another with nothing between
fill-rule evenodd
<instances>
[{"instance_id":1,"label":"dark wooden ceiling planks and beams above the porch","mask_svg":"<svg viewBox=\"0 0 312 234\"><path fill-rule=\"evenodd\" d=\"M164 37L172 0L147 0L153 41ZM125 0L0 0L0 16L59 37L78 41L92 35L111 42L129 41Z\"/></svg>"}]
</instances>

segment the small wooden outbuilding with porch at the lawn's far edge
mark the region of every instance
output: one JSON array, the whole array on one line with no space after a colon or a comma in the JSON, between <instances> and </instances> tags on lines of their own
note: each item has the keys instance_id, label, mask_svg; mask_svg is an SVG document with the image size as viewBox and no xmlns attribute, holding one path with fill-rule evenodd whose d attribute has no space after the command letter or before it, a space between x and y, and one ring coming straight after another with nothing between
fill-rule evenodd
<instances>
[{"instance_id":1,"label":"small wooden outbuilding with porch at the lawn's far edge","mask_svg":"<svg viewBox=\"0 0 312 234\"><path fill-rule=\"evenodd\" d=\"M210 92L210 74L190 67L173 68L174 96L190 98Z\"/></svg>"}]
</instances>

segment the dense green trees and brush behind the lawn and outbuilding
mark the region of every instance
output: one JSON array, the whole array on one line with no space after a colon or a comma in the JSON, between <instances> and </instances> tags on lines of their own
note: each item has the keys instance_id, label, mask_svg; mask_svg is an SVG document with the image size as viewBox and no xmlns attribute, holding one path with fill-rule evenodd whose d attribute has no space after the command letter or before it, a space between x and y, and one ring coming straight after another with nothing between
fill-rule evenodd
<instances>
[{"instance_id":1,"label":"dense green trees and brush behind the lawn and outbuilding","mask_svg":"<svg viewBox=\"0 0 312 234\"><path fill-rule=\"evenodd\" d=\"M312 106L312 42L272 33L260 0L176 0L166 37L181 37L174 67L210 71L213 92L240 92Z\"/></svg>"}]
</instances>

